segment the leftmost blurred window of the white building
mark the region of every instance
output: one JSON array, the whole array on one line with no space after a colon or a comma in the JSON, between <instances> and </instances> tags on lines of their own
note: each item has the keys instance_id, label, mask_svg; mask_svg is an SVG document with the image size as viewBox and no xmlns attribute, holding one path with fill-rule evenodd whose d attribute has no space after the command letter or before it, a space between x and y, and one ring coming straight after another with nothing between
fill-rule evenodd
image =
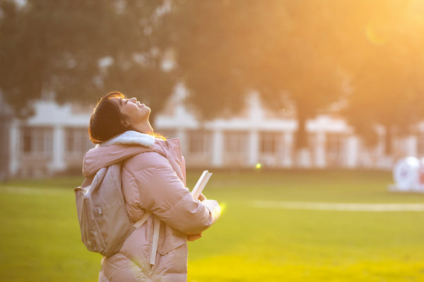
<instances>
[{"instance_id":1,"label":"leftmost blurred window of the white building","mask_svg":"<svg viewBox=\"0 0 424 282\"><path fill-rule=\"evenodd\" d=\"M22 133L21 151L24 154L51 156L52 128L25 126L20 130Z\"/></svg>"}]
</instances>

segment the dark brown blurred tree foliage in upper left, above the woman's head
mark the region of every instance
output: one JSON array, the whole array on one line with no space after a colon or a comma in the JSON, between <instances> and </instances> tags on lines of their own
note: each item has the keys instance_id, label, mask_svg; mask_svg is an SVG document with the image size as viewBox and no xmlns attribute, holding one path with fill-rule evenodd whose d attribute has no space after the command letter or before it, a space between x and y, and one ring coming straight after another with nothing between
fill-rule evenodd
<instances>
[{"instance_id":1,"label":"dark brown blurred tree foliage in upper left, above the woman's head","mask_svg":"<svg viewBox=\"0 0 424 282\"><path fill-rule=\"evenodd\" d=\"M163 1L1 0L0 89L16 114L45 94L94 102L110 90L160 111L174 85L161 66Z\"/></svg>"}]
</instances>

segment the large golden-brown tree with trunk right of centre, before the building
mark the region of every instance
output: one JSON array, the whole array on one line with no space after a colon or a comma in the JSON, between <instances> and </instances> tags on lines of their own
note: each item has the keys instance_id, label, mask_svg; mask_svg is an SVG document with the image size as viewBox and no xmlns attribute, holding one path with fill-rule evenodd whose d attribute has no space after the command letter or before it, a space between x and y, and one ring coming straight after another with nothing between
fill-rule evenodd
<instances>
[{"instance_id":1,"label":"large golden-brown tree with trunk right of centre, before the building","mask_svg":"<svg viewBox=\"0 0 424 282\"><path fill-rule=\"evenodd\" d=\"M340 97L331 1L177 1L167 18L189 102L205 118L243 109L257 90L270 109L289 99L305 121ZM213 99L212 99L213 97Z\"/></svg>"}]
</instances>

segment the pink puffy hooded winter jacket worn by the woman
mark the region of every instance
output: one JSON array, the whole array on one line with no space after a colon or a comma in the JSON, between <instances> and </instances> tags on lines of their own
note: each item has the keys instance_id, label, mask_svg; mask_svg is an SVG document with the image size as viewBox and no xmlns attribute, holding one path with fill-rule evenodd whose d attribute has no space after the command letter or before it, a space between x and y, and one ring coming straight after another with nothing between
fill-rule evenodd
<instances>
[{"instance_id":1,"label":"pink puffy hooded winter jacket worn by the woman","mask_svg":"<svg viewBox=\"0 0 424 282\"><path fill-rule=\"evenodd\" d=\"M86 178L122 161L122 192L131 221L146 212L161 221L155 264L149 264L153 243L150 216L126 239L119 253L103 257L99 281L187 281L187 236L199 238L190 234L201 233L220 215L218 202L195 200L185 187L179 140L153 142L151 147L112 142L90 149L84 157Z\"/></svg>"}]
</instances>

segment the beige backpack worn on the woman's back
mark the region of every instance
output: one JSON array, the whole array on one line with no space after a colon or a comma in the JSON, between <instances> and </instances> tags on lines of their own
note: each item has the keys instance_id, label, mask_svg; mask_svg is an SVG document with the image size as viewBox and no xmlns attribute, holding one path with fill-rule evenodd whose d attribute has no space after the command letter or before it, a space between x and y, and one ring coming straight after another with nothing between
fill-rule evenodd
<instances>
[{"instance_id":1,"label":"beige backpack worn on the woman's back","mask_svg":"<svg viewBox=\"0 0 424 282\"><path fill-rule=\"evenodd\" d=\"M105 257L119 252L136 229L125 209L121 164L101 168L90 185L75 188L75 197L81 240L87 249Z\"/></svg>"}]
</instances>

